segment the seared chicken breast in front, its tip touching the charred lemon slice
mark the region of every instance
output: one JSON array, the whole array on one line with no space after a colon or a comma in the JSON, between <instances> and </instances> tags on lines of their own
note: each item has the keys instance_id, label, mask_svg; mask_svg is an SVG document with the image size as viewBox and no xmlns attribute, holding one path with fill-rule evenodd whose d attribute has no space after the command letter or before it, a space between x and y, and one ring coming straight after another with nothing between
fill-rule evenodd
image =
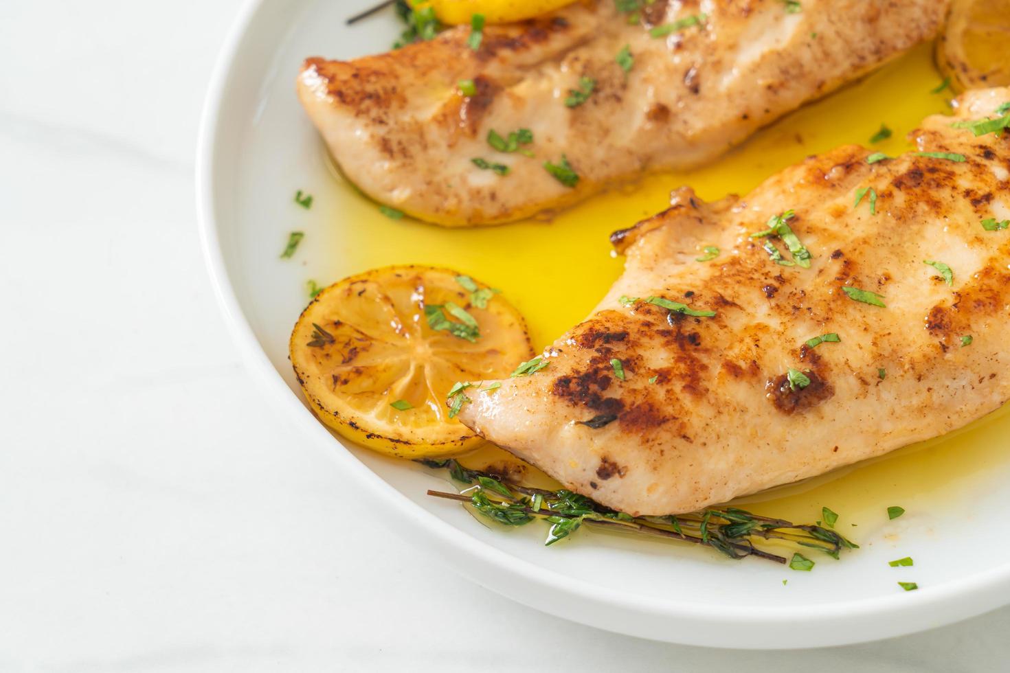
<instances>
[{"instance_id":1,"label":"seared chicken breast in front, its tip touching the charred lemon slice","mask_svg":"<svg viewBox=\"0 0 1010 673\"><path fill-rule=\"evenodd\" d=\"M549 364L460 418L574 490L663 515L994 411L1010 397L1010 133L951 123L1007 101L971 92L924 120L915 143L943 154L846 146L742 199L676 192L613 235L626 269Z\"/></svg>"}]
</instances>

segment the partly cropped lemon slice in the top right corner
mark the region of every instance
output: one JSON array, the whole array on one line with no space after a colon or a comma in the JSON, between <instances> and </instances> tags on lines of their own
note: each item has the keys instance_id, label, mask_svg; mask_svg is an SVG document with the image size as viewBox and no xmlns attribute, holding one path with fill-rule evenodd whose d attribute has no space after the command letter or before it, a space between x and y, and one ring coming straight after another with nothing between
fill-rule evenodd
<instances>
[{"instance_id":1,"label":"partly cropped lemon slice in the top right corner","mask_svg":"<svg viewBox=\"0 0 1010 673\"><path fill-rule=\"evenodd\" d=\"M1010 85L1010 0L954 0L936 64L956 91Z\"/></svg>"}]
</instances>

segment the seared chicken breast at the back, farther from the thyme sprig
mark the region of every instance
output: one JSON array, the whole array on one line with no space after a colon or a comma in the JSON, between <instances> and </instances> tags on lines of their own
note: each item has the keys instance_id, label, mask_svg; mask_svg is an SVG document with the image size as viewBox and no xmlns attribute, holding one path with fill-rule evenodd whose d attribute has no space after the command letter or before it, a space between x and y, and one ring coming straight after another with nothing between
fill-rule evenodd
<instances>
[{"instance_id":1,"label":"seared chicken breast at the back, farther from the thyme sprig","mask_svg":"<svg viewBox=\"0 0 1010 673\"><path fill-rule=\"evenodd\" d=\"M709 161L932 36L947 2L803 0L796 13L782 0L642 5L633 24L612 0L587 0L487 26L476 50L462 26L381 55L308 59L298 95L369 196L443 225L499 223ZM517 151L488 143L492 130L507 145L519 129L532 142ZM544 167L565 160L568 185Z\"/></svg>"}]
</instances>

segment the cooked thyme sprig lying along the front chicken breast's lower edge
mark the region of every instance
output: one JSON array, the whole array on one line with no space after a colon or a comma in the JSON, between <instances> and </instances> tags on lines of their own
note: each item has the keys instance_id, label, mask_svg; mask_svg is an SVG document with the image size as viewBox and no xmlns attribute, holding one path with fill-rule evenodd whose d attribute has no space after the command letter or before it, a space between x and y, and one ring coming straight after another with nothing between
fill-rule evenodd
<instances>
[{"instance_id":1,"label":"cooked thyme sprig lying along the front chicken breast's lower edge","mask_svg":"<svg viewBox=\"0 0 1010 673\"><path fill-rule=\"evenodd\" d=\"M547 546L586 526L711 547L731 559L756 556L783 565L789 559L760 549L755 542L777 540L816 549L833 558L838 558L843 549L858 548L821 526L793 524L737 508L708 508L666 517L632 517L566 488L546 490L525 486L501 475L464 467L457 460L419 462L431 468L446 469L456 481L471 484L461 493L428 490L428 495L469 504L478 514L505 526L546 522L550 525L544 541Z\"/></svg>"}]
</instances>

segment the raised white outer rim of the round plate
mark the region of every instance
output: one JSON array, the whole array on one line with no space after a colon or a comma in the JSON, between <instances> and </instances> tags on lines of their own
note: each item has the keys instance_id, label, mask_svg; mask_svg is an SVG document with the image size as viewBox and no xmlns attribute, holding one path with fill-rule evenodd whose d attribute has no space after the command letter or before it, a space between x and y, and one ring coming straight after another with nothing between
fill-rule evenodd
<instances>
[{"instance_id":1,"label":"raised white outer rim of the round plate","mask_svg":"<svg viewBox=\"0 0 1010 673\"><path fill-rule=\"evenodd\" d=\"M853 645L946 626L1010 602L1010 561L914 593L805 607L700 603L623 593L502 553L418 507L351 452L334 450L333 436L293 394L256 337L232 287L218 236L214 177L222 160L217 146L229 75L236 68L244 40L250 39L258 15L279 2L282 0L244 0L217 54L204 98L195 180L204 262L218 308L245 367L269 399L287 410L292 424L312 439L316 450L377 496L380 507L376 512L401 537L459 574L529 607L626 636L682 645L764 650ZM297 13L292 3L285 4L290 14ZM339 441L336 444L342 448ZM432 545L433 540L438 544ZM714 627L721 631L713 633ZM727 633L727 628L737 633Z\"/></svg>"}]
</instances>

